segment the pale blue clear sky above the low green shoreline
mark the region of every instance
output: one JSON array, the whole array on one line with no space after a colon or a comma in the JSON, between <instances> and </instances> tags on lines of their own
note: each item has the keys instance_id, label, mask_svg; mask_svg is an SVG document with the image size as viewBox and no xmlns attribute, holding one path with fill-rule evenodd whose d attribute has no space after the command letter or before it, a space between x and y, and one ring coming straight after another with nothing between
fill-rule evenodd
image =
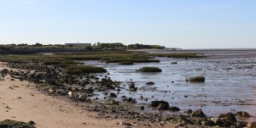
<instances>
[{"instance_id":1,"label":"pale blue clear sky above the low green shoreline","mask_svg":"<svg viewBox=\"0 0 256 128\"><path fill-rule=\"evenodd\" d=\"M0 0L0 44L256 48L256 0Z\"/></svg>"}]
</instances>

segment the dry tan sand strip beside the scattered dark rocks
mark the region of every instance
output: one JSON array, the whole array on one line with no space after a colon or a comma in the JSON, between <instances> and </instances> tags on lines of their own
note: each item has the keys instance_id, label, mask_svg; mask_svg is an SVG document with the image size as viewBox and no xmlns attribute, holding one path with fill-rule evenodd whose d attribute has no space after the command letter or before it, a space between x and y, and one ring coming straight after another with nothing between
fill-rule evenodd
<instances>
[{"instance_id":1,"label":"dry tan sand strip beside the scattered dark rocks","mask_svg":"<svg viewBox=\"0 0 256 128\"><path fill-rule=\"evenodd\" d=\"M5 65L0 63L0 70L3 68L6 68ZM46 96L38 92L34 84L27 81L11 81L10 76L5 76L3 79L4 81L0 81L0 121L33 120L35 126L39 128L124 127L117 125L122 120L96 119L95 113L84 111L74 103Z\"/></svg>"}]
</instances>

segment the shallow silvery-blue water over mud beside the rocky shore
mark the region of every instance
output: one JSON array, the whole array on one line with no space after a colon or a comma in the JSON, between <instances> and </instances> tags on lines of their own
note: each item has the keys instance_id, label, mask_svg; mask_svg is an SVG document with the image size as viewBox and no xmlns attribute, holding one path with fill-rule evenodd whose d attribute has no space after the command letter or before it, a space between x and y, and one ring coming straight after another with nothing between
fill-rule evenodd
<instances>
[{"instance_id":1,"label":"shallow silvery-blue water over mud beside the rocky shore","mask_svg":"<svg viewBox=\"0 0 256 128\"><path fill-rule=\"evenodd\" d=\"M256 58L158 59L160 63L119 65L84 61L84 64L105 67L110 74L108 77L121 81L121 86L125 88L119 92L119 96L136 97L138 103L165 100L170 106L182 110L203 109L207 116L247 111L253 115L249 120L256 120ZM177 64L172 64L173 61L177 61ZM159 67L162 72L136 71L143 66ZM206 82L185 81L187 77L195 75L206 76ZM129 92L131 81L138 87L137 92ZM153 81L154 86L145 85L148 81ZM140 99L141 96L143 99Z\"/></svg>"}]
</instances>

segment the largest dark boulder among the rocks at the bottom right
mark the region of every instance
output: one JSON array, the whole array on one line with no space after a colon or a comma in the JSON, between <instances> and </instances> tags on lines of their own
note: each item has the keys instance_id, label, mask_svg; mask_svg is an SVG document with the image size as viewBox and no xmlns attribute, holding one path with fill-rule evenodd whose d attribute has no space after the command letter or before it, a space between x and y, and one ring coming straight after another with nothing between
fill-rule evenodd
<instances>
[{"instance_id":1,"label":"largest dark boulder among the rocks at the bottom right","mask_svg":"<svg viewBox=\"0 0 256 128\"><path fill-rule=\"evenodd\" d=\"M218 118L220 118L220 120L223 122L223 125L221 126L235 125L237 122L236 116L232 113L221 114L218 116Z\"/></svg>"}]
</instances>

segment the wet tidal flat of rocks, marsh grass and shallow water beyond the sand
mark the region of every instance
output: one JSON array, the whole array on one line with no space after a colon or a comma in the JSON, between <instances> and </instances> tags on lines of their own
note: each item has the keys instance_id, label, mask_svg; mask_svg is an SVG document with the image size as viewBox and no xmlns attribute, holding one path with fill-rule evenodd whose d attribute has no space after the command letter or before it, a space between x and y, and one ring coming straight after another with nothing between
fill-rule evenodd
<instances>
[{"instance_id":1,"label":"wet tidal flat of rocks, marsh grass and shallow water beyond the sand","mask_svg":"<svg viewBox=\"0 0 256 128\"><path fill-rule=\"evenodd\" d=\"M86 103L88 110L99 113L99 118L144 120L149 125L172 122L180 126L246 126L247 122L255 121L256 51L253 50L37 56L3 56L2 61L9 62L9 67L26 71L3 70L2 75L34 82L47 95ZM132 64L119 64L122 61ZM83 65L102 67L107 72L68 74L68 66ZM158 67L161 72L138 71L145 66ZM205 81L186 81L197 75L205 76ZM156 108L152 106L155 102L160 102ZM190 111L199 112L200 119ZM214 121L213 117L218 117L222 123Z\"/></svg>"}]
</instances>

